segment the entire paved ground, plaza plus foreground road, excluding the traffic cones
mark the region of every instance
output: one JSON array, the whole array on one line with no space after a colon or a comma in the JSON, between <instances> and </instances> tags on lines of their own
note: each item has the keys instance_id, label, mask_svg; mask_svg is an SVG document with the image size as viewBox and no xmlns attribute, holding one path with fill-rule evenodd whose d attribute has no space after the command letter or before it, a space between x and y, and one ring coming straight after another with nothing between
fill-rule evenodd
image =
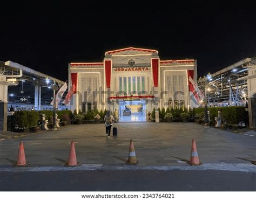
<instances>
[{"instance_id":1,"label":"entire paved ground, plaza plus foreground road, excluding the traffic cones","mask_svg":"<svg viewBox=\"0 0 256 200\"><path fill-rule=\"evenodd\" d=\"M256 137L194 123L117 123L118 137L104 125L71 125L0 140L0 191L256 191ZM130 139L138 165L126 165ZM190 166L191 140L203 165ZM19 141L29 167L12 168ZM70 141L78 167L63 167ZM174 156L174 157L172 157ZM244 158L244 160L236 157Z\"/></svg>"}]
</instances>

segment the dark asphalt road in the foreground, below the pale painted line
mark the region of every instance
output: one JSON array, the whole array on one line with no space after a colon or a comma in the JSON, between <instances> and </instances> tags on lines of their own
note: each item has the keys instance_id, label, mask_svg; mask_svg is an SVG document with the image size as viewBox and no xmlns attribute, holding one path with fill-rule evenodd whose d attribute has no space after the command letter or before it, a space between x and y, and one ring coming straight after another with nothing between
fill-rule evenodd
<instances>
[{"instance_id":1,"label":"dark asphalt road in the foreground, below the pale painted line","mask_svg":"<svg viewBox=\"0 0 256 200\"><path fill-rule=\"evenodd\" d=\"M256 191L256 173L194 170L0 172L1 191Z\"/></svg>"}]
</instances>

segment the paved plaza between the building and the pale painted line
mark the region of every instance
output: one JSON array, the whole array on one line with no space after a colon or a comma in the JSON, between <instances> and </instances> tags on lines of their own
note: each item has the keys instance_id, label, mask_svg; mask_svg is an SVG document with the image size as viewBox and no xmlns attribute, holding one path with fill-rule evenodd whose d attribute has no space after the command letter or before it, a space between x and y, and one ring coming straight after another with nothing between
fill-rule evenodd
<instances>
[{"instance_id":1,"label":"paved plaza between the building and the pale painted line","mask_svg":"<svg viewBox=\"0 0 256 200\"><path fill-rule=\"evenodd\" d=\"M0 141L0 166L15 162L19 141L24 142L31 166L60 166L67 160L70 141L76 142L80 163L125 165L130 139L134 140L139 166L187 165L191 140L197 142L203 163L250 163L234 156L256 160L256 137L220 129L205 129L194 123L117 123L118 137L105 137L104 125L70 125L57 132L44 131ZM174 157L179 158L174 158ZM63 161L64 162L64 161Z\"/></svg>"}]
</instances>

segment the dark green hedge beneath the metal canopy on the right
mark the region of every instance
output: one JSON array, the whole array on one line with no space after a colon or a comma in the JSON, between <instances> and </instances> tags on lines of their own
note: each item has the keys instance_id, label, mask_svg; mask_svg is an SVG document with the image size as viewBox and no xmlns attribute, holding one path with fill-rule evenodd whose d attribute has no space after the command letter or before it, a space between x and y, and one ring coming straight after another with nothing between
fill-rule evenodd
<instances>
[{"instance_id":1,"label":"dark green hedge beneath the metal canopy on the right","mask_svg":"<svg viewBox=\"0 0 256 200\"><path fill-rule=\"evenodd\" d=\"M205 108L195 108L195 113L204 112ZM245 121L248 124L248 112L243 106L230 106L230 107L208 107L210 111L210 119L218 116L218 111L221 111L221 119L227 121L231 125L238 125L240 121Z\"/></svg>"}]
</instances>

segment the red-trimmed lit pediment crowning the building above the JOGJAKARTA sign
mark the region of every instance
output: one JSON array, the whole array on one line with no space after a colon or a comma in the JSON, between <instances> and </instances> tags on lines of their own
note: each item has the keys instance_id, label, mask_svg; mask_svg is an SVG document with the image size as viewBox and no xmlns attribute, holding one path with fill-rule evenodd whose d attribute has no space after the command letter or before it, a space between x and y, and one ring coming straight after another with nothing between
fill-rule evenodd
<instances>
[{"instance_id":1,"label":"red-trimmed lit pediment crowning the building above the JOGJAKARTA sign","mask_svg":"<svg viewBox=\"0 0 256 200\"><path fill-rule=\"evenodd\" d=\"M107 55L134 55L134 54L158 54L158 51L156 50L150 50L150 49L139 49L134 47L129 47L125 49L119 49L114 51L107 51L105 53L105 56Z\"/></svg>"}]
</instances>

